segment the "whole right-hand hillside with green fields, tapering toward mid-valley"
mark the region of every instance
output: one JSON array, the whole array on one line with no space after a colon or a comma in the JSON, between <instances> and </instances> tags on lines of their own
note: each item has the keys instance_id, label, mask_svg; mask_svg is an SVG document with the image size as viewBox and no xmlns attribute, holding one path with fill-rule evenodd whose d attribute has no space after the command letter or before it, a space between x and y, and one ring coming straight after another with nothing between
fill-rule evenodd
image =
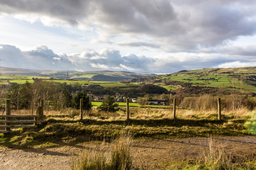
<instances>
[{"instance_id":1,"label":"whole right-hand hillside with green fields, tapering toward mid-valley","mask_svg":"<svg viewBox=\"0 0 256 170\"><path fill-rule=\"evenodd\" d=\"M256 93L256 67L181 70L172 74L133 78L127 82L151 83L165 87L167 90L174 90L178 87L194 87L197 89L223 88L230 90L233 85L240 89L241 79L244 92Z\"/></svg>"}]
</instances>

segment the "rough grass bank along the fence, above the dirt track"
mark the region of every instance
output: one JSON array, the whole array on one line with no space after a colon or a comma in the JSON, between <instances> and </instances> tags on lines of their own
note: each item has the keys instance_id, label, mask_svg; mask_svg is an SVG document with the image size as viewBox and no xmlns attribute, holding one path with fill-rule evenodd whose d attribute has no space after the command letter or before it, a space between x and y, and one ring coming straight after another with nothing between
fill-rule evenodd
<instances>
[{"instance_id":1,"label":"rough grass bank along the fence, above the dirt track","mask_svg":"<svg viewBox=\"0 0 256 170\"><path fill-rule=\"evenodd\" d=\"M172 110L162 108L130 108L130 120L126 121L125 107L118 112L99 112L95 107L84 112L84 120L79 120L79 110L45 110L47 125L35 129L17 129L16 133L0 136L0 145L35 147L50 143L70 141L111 139L123 131L130 131L134 138L187 138L212 136L253 135L255 111L223 111L223 120L218 121L215 110L195 112L177 110L177 119L172 119ZM31 114L31 110L16 110L12 114ZM82 138L81 138L82 136ZM80 141L81 142L81 141Z\"/></svg>"}]
</instances>

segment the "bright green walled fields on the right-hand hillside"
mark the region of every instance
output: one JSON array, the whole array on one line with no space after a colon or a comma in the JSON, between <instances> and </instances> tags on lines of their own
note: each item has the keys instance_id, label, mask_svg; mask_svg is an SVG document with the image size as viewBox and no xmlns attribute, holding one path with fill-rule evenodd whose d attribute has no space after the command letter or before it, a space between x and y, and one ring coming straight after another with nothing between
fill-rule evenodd
<instances>
[{"instance_id":1,"label":"bright green walled fields on the right-hand hillside","mask_svg":"<svg viewBox=\"0 0 256 170\"><path fill-rule=\"evenodd\" d=\"M235 77L233 77L233 75ZM192 83L192 85L204 85L205 87L221 87L225 90L230 90L231 87L234 86L237 90L240 90L241 82L240 80L238 80L237 77L245 78L248 76L256 76L256 67L184 70L182 72L177 72L173 74L156 76L156 80L175 80L180 82ZM210 80L210 78L214 78L215 80ZM173 90L173 88L175 88L175 86L166 86L164 84L161 84L160 86L166 88L167 90ZM245 80L243 80L242 88L242 92L256 92L256 87L248 84Z\"/></svg>"}]
</instances>

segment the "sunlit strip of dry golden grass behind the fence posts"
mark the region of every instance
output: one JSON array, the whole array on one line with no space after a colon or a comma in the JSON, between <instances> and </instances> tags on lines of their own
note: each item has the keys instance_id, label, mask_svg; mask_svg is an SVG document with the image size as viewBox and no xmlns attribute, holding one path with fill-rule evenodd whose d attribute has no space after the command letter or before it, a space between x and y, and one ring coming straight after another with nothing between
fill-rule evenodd
<instances>
[{"instance_id":1,"label":"sunlit strip of dry golden grass behind the fence posts","mask_svg":"<svg viewBox=\"0 0 256 170\"><path fill-rule=\"evenodd\" d=\"M99 111L96 107L92 110L84 110L83 118L91 120L126 120L126 108L121 107L118 112L105 112ZM234 111L223 109L221 111L223 120L251 120L256 110L249 110L248 107L241 107ZM31 115L32 110L11 110L12 115ZM35 111L33 112L35 114ZM44 110L44 115L48 119L54 117L56 120L79 120L80 110L74 108L66 108L61 110ZM108 118L107 118L108 117ZM215 109L212 110L189 110L189 109L179 109L176 110L177 119L185 120L217 120L218 113ZM151 107L130 107L130 119L133 120L162 120L162 119L172 119L173 109L164 108L151 108ZM255 118L255 117L254 117Z\"/></svg>"}]
</instances>

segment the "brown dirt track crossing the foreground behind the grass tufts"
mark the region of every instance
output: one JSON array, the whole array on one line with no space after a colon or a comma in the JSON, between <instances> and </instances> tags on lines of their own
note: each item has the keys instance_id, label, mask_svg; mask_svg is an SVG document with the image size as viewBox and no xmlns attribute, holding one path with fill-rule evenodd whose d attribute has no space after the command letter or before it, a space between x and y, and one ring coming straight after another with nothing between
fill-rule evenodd
<instances>
[{"instance_id":1,"label":"brown dirt track crossing the foreground behind the grass tufts","mask_svg":"<svg viewBox=\"0 0 256 170\"><path fill-rule=\"evenodd\" d=\"M256 155L256 136L219 137L216 141L225 144L228 153L234 155ZM53 148L14 149L0 147L0 169L2 170L66 170L74 156L93 143L57 146ZM134 165L138 168L161 169L162 163L173 160L196 159L205 138L137 139L133 144ZM254 157L255 158L255 157Z\"/></svg>"}]
</instances>

